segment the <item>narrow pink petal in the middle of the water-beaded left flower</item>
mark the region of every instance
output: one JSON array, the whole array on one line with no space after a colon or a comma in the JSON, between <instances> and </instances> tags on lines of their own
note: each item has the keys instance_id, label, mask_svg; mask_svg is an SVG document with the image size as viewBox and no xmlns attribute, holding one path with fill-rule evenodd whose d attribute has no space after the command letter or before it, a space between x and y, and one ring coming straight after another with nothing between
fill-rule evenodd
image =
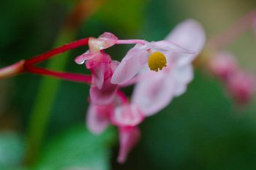
<instances>
[{"instance_id":1,"label":"narrow pink petal in the middle of the water-beaded left flower","mask_svg":"<svg viewBox=\"0 0 256 170\"><path fill-rule=\"evenodd\" d=\"M104 82L104 74L107 69L108 63L99 63L98 66L95 66L92 72L91 82L93 85L96 85L97 88L101 89Z\"/></svg>"}]
</instances>

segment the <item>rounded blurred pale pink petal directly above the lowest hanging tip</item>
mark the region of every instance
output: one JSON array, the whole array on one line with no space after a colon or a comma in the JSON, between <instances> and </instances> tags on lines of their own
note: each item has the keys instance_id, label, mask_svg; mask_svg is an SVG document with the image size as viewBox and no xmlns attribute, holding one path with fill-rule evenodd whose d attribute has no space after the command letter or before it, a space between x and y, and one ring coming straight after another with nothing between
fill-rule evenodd
<instances>
[{"instance_id":1,"label":"rounded blurred pale pink petal directly above the lowest hanging tip","mask_svg":"<svg viewBox=\"0 0 256 170\"><path fill-rule=\"evenodd\" d=\"M115 112L110 116L111 122L117 126L135 126L141 123L143 118L143 113L135 104L116 107Z\"/></svg>"}]
</instances>

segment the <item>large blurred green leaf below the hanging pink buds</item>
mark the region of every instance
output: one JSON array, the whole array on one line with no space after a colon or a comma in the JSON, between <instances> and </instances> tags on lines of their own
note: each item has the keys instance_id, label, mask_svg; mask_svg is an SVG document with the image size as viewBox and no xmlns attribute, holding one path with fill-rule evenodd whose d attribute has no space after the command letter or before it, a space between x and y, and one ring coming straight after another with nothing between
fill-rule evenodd
<instances>
[{"instance_id":1,"label":"large blurred green leaf below the hanging pink buds","mask_svg":"<svg viewBox=\"0 0 256 170\"><path fill-rule=\"evenodd\" d=\"M39 158L36 169L109 169L110 144L115 131L108 129L95 136L84 125L56 136Z\"/></svg>"}]
</instances>

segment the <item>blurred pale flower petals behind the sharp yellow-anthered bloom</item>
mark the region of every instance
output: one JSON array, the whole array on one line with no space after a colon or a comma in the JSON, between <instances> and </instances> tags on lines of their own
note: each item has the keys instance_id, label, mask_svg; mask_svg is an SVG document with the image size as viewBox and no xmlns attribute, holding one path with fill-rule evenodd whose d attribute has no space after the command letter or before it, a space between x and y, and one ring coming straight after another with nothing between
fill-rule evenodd
<instances>
[{"instance_id":1,"label":"blurred pale flower petals behind the sharp yellow-anthered bloom","mask_svg":"<svg viewBox=\"0 0 256 170\"><path fill-rule=\"evenodd\" d=\"M167 41L176 42L189 50L200 52L205 43L203 28L195 20L185 20L167 36ZM193 78L192 61L197 55L172 53L170 64L162 72L141 72L135 85L132 103L140 106L146 116L154 115L180 96Z\"/></svg>"}]
</instances>

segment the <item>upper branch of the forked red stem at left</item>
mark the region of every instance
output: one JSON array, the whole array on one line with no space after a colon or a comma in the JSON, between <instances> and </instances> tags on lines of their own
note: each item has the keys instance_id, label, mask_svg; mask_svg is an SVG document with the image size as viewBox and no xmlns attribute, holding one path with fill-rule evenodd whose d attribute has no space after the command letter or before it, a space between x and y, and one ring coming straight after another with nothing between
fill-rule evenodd
<instances>
[{"instance_id":1,"label":"upper branch of the forked red stem at left","mask_svg":"<svg viewBox=\"0 0 256 170\"><path fill-rule=\"evenodd\" d=\"M47 53L43 53L41 55L37 55L34 58L30 58L29 60L26 61L26 65L34 65L36 63L42 62L47 60L48 58L53 57L54 55L57 55L59 53L64 53L67 50L72 50L74 48L83 46L83 45L88 45L89 42L89 38L85 38L85 39L80 39L78 41L75 42L70 42L67 45L63 45L61 47L58 47L56 49L50 50Z\"/></svg>"}]
</instances>

